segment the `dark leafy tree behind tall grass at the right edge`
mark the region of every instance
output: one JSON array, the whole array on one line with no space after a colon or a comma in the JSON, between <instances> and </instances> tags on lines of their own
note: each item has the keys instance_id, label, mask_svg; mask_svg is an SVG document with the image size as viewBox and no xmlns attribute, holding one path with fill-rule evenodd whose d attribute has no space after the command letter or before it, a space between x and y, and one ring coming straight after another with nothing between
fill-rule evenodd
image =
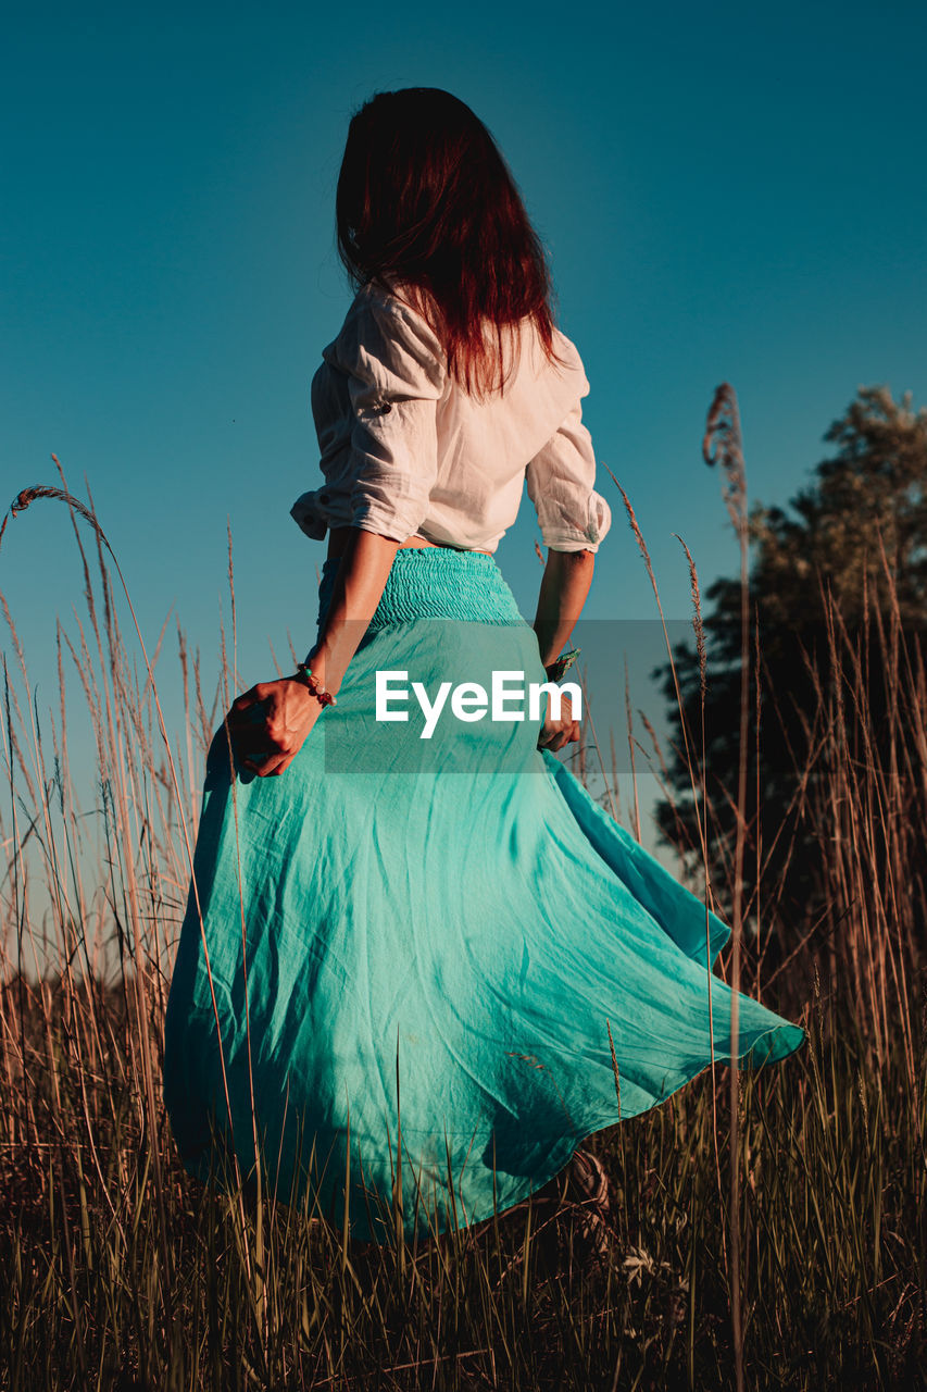
<instances>
[{"instance_id":1,"label":"dark leafy tree behind tall grass at the right edge","mask_svg":"<svg viewBox=\"0 0 927 1392\"><path fill-rule=\"evenodd\" d=\"M860 799L877 824L876 834L864 832L869 874L877 878L898 874L901 832L892 817L910 810L912 799L921 807L917 816L927 816L927 411L914 412L909 393L896 402L885 387L860 388L824 438L835 452L788 511L754 504L747 516L754 650L743 902L747 930L759 920L772 959L816 926L835 934L838 902L849 912L853 894L846 885L837 892L839 841L853 834ZM663 839L683 852L695 877L707 866L715 906L728 916L740 599L739 579L728 578L703 596L704 756L699 654L695 646L674 654L699 767L690 770L676 741L670 796L657 805ZM654 675L678 720L670 665ZM908 849L913 856L913 844ZM906 874L916 876L917 864ZM912 888L909 935L924 928L923 878Z\"/></svg>"}]
</instances>

